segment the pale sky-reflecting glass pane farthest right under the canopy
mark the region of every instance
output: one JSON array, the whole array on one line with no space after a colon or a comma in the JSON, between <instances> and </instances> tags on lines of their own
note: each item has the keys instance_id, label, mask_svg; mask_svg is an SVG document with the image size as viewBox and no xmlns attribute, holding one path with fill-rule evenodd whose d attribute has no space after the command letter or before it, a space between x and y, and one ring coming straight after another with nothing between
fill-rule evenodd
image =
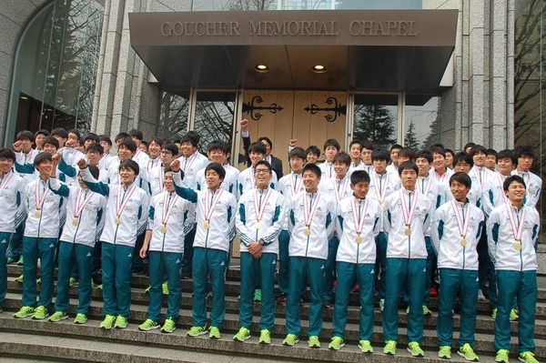
<instances>
[{"instance_id":1,"label":"pale sky-reflecting glass pane farthest right under the canopy","mask_svg":"<svg viewBox=\"0 0 546 363\"><path fill-rule=\"evenodd\" d=\"M423 106L410 106L408 99L410 96L404 107L404 146L419 150L440 143L440 97L431 97Z\"/></svg>"}]
</instances>

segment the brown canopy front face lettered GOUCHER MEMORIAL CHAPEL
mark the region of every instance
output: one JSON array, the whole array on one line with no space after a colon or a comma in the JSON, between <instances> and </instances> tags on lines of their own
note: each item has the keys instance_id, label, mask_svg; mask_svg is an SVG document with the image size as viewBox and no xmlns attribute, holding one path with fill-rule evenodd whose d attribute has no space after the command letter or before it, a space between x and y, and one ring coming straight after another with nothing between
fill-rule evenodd
<instances>
[{"instance_id":1,"label":"brown canopy front face lettered GOUCHER MEMORIAL CHAPEL","mask_svg":"<svg viewBox=\"0 0 546 363\"><path fill-rule=\"evenodd\" d=\"M129 19L134 46L141 41L147 45L447 45L455 34L451 26L444 29L446 24L457 24L457 12L225 11L136 13Z\"/></svg>"}]
</instances>

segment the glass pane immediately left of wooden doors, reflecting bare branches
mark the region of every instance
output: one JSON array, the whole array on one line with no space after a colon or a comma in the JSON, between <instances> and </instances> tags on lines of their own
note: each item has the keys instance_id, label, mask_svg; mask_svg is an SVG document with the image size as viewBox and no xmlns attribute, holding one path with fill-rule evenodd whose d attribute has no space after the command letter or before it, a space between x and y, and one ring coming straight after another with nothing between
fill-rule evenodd
<instances>
[{"instance_id":1,"label":"glass pane immediately left of wooden doors, reflecting bare branches","mask_svg":"<svg viewBox=\"0 0 546 363\"><path fill-rule=\"evenodd\" d=\"M201 136L201 153L206 154L214 140L232 145L235 99L235 92L197 92L194 130Z\"/></svg>"}]
</instances>

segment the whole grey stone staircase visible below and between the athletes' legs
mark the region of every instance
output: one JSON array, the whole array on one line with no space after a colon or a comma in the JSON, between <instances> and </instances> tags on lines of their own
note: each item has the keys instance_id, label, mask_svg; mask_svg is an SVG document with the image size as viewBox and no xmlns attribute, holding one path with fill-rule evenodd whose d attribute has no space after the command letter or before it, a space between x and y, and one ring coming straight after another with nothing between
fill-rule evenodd
<instances>
[{"instance_id":1,"label":"whole grey stone staircase visible below and between the athletes' legs","mask_svg":"<svg viewBox=\"0 0 546 363\"><path fill-rule=\"evenodd\" d=\"M395 357L385 356L381 352L383 346L381 316L379 308L375 314L375 328L372 345L375 352L371 355L359 351L357 344L359 339L359 308L358 296L350 298L349 324L346 332L346 347L339 351L328 349L329 338L332 333L333 309L324 310L324 328L320 337L322 348L312 349L307 347L305 341L308 317L308 304L301 308L303 331L302 340L294 347L282 346L282 339L286 334L284 307L276 308L276 326L272 333L271 345L259 345L258 324L251 328L252 338L245 343L232 340L239 328L238 325L238 292L239 271L230 269L227 274L227 316L222 328L222 338L218 340L208 339L207 336L199 338L186 337L187 328L191 327L192 306L192 282L183 280L183 297L181 315L177 321L177 330L172 334L162 334L159 330L150 332L138 331L137 325L147 318L148 297L144 292L147 287L147 277L133 277L132 279L132 306L129 316L130 325L126 329L106 331L98 328L103 318L102 291L94 289L93 303L89 311L89 321L84 326L76 326L72 323L75 316L70 310L70 317L59 323L47 321L35 321L30 318L12 318L21 306L20 297L22 284L15 282L15 277L22 273L22 267L8 266L8 294L5 300L5 312L0 314L0 361L4 358L16 358L20 362L31 361L69 361L69 362L148 362L161 359L165 362L288 362L288 361L313 361L313 362L410 362L416 358L410 357L406 352L408 338L406 337L407 315L403 309L399 310L400 338L398 354ZM71 303L76 305L77 287L71 287ZM535 339L537 348L535 354L540 360L546 361L546 289L540 289L537 303L537 322ZM436 338L436 318L438 300L432 298L430 308L433 311L431 317L425 318L425 336L421 347L426 351L427 361L440 363L445 359L437 357L438 341ZM259 304L254 307L255 321L258 322ZM479 316L476 326L475 350L480 355L481 362L493 362L493 319L490 318L487 302L478 304ZM459 330L460 318L455 315L455 330ZM518 323L512 324L512 330L517 331ZM456 339L455 339L456 341ZM512 360L516 361L517 338L512 338ZM33 360L34 359L34 360ZM465 361L460 358L455 349L452 352L451 361Z\"/></svg>"}]
</instances>

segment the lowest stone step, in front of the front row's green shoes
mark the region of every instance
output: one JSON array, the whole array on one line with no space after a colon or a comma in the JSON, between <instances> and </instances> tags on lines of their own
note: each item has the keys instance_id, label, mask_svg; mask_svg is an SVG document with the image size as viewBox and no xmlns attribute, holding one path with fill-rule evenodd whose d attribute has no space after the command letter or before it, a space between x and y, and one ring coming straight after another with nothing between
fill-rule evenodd
<instances>
[{"instance_id":1,"label":"lowest stone step, in front of the front row's green shoes","mask_svg":"<svg viewBox=\"0 0 546 363\"><path fill-rule=\"evenodd\" d=\"M32 332L32 333L31 333ZM415 362L405 345L400 344L395 357L381 353L379 346L373 354L363 354L356 344L348 344L339 351L323 348L308 348L305 341L294 347L282 346L282 338L272 338L270 345L258 344L257 338L244 343L235 342L230 335L211 340L207 336L189 338L186 331L177 329L172 334L162 334L158 330L138 331L135 328L106 331L98 328L98 321L89 321L85 326L76 326L68 320L60 323L17 320L0 314L0 354L26 357L63 358L68 361L87 362L147 362L161 359L166 362L232 362L251 363L268 361L282 363L288 361L313 361L348 363L357 362ZM515 348L515 347L514 347ZM543 351L545 347L537 347ZM46 349L46 350L45 350ZM515 352L515 351L514 351ZM515 353L512 358L515 358ZM436 348L426 349L426 360L430 363L445 363L437 358ZM241 357L244 356L244 357ZM271 358L275 357L275 358ZM252 359L252 360L250 360ZM453 362L464 362L455 351ZM480 356L480 362L492 363L494 358Z\"/></svg>"}]
</instances>

